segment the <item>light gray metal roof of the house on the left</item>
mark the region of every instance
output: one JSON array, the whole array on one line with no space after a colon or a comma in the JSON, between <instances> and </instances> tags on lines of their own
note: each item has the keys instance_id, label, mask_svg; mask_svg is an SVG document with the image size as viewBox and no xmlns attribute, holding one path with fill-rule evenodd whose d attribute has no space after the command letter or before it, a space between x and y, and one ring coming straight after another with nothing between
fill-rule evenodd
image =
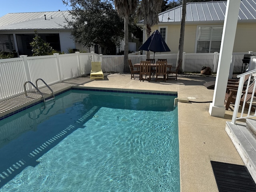
<instances>
[{"instance_id":1,"label":"light gray metal roof of the house on the left","mask_svg":"<svg viewBox=\"0 0 256 192\"><path fill-rule=\"evenodd\" d=\"M64 29L65 18L71 19L68 11L8 13L0 17L0 30Z\"/></svg>"}]
</instances>

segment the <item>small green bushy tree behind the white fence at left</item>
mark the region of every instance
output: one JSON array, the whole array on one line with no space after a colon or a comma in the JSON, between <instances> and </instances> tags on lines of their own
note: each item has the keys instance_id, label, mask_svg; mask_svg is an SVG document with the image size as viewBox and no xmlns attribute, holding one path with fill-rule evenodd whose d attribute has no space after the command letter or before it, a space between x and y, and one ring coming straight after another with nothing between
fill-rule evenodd
<instances>
[{"instance_id":1,"label":"small green bushy tree behind the white fence at left","mask_svg":"<svg viewBox=\"0 0 256 192\"><path fill-rule=\"evenodd\" d=\"M35 37L33 38L33 41L30 42L30 46L32 47L33 56L49 55L52 53L50 43L42 40L42 38L38 35L37 30L35 30Z\"/></svg>"}]
</instances>

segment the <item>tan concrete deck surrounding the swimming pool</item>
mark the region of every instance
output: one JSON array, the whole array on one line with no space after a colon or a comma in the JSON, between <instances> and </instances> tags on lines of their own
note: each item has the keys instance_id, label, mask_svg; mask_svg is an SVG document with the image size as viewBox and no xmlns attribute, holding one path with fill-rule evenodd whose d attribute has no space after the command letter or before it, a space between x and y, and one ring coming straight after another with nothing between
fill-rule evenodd
<instances>
[{"instance_id":1,"label":"tan concrete deck surrounding the swimming pool","mask_svg":"<svg viewBox=\"0 0 256 192\"><path fill-rule=\"evenodd\" d=\"M130 79L130 74L108 74L104 76L104 80L90 81L88 76L79 77L50 87L54 92L60 92L71 86L82 86L178 92L180 99L186 100L190 97L193 102L178 102L181 192L218 192L210 161L240 165L244 163L225 131L226 121L232 119L232 111L226 110L224 118L212 117L208 112L214 90L208 90L203 84L212 80L215 80L215 77L190 76L178 77L178 80L170 79L166 82L162 80L140 82L138 78ZM30 98L32 97L30 95ZM27 104L39 99L32 99Z\"/></svg>"}]
</instances>

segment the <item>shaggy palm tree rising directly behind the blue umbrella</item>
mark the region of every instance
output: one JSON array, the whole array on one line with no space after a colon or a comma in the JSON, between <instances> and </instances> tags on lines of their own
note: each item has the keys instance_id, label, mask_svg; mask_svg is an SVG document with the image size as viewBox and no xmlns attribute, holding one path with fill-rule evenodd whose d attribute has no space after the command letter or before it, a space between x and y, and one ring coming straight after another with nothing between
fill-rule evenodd
<instances>
[{"instance_id":1,"label":"shaggy palm tree rising directly behind the blue umbrella","mask_svg":"<svg viewBox=\"0 0 256 192\"><path fill-rule=\"evenodd\" d=\"M163 0L142 0L140 7L137 10L139 20L144 19L144 26L146 26L147 38L151 33L151 27L158 24L158 14L162 10ZM147 51L147 58L150 58L150 52Z\"/></svg>"}]
</instances>

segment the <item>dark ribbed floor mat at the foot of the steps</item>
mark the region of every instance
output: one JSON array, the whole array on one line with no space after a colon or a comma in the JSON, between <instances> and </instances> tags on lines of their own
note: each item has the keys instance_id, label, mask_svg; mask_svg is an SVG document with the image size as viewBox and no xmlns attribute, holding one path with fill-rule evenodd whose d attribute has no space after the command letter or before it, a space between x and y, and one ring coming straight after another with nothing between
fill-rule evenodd
<instances>
[{"instance_id":1,"label":"dark ribbed floor mat at the foot of the steps","mask_svg":"<svg viewBox=\"0 0 256 192\"><path fill-rule=\"evenodd\" d=\"M219 192L256 192L246 166L211 161Z\"/></svg>"}]
</instances>

